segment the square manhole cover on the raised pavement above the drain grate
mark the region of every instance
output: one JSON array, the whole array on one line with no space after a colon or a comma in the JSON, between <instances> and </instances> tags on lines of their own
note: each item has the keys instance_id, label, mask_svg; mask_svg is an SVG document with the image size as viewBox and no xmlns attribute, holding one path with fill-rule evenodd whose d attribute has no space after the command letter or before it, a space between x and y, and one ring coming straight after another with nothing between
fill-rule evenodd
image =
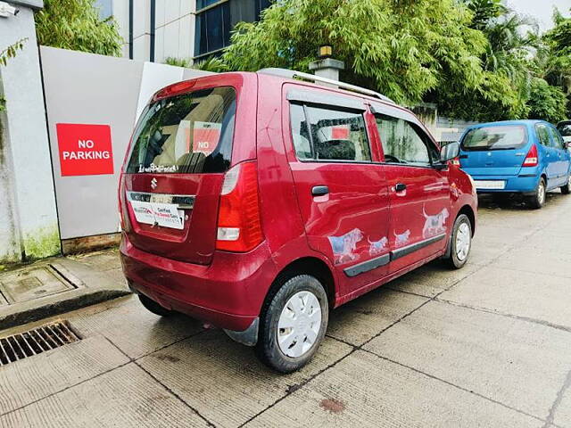
<instances>
[{"instance_id":1,"label":"square manhole cover on the raised pavement above the drain grate","mask_svg":"<svg viewBox=\"0 0 571 428\"><path fill-rule=\"evenodd\" d=\"M66 292L75 288L51 267L35 268L4 274L0 292L9 304Z\"/></svg>"}]
</instances>

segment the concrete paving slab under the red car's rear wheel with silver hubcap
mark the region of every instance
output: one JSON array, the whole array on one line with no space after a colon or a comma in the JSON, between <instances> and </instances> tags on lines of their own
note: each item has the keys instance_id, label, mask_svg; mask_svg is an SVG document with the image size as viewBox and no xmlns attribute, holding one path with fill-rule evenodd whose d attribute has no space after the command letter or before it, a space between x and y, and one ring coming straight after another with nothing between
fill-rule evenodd
<instances>
[{"instance_id":1,"label":"concrete paving slab under the red car's rear wheel with silver hubcap","mask_svg":"<svg viewBox=\"0 0 571 428\"><path fill-rule=\"evenodd\" d=\"M139 363L212 424L236 427L351 350L326 338L308 366L284 375L263 366L251 348L211 330L159 350Z\"/></svg>"}]
</instances>

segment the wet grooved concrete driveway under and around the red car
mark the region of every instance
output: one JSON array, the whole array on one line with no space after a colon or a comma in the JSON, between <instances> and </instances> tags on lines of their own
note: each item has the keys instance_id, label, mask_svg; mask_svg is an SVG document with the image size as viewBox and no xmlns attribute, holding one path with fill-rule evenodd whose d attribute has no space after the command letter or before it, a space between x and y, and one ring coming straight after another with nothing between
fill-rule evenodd
<instances>
[{"instance_id":1,"label":"wet grooved concrete driveway under and around the red car","mask_svg":"<svg viewBox=\"0 0 571 428\"><path fill-rule=\"evenodd\" d=\"M0 426L571 427L571 196L482 201L466 268L433 263L331 314L302 371L136 298L0 368Z\"/></svg>"}]
</instances>

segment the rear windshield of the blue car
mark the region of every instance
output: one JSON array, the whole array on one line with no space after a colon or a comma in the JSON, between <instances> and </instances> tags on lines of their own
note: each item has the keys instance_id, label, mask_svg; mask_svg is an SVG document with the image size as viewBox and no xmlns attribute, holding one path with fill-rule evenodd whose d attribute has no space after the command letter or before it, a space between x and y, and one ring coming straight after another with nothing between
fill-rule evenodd
<instances>
[{"instance_id":1,"label":"rear windshield of the blue car","mask_svg":"<svg viewBox=\"0 0 571 428\"><path fill-rule=\"evenodd\" d=\"M527 143L527 132L521 125L475 128L462 140L464 150L518 149Z\"/></svg>"}]
</instances>

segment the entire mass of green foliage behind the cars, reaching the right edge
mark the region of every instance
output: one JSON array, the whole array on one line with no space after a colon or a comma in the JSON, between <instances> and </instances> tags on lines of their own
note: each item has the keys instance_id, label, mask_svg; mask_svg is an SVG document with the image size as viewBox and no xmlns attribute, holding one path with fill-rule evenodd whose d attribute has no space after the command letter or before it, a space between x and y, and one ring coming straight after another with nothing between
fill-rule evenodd
<instances>
[{"instance_id":1,"label":"entire mass of green foliage behind the cars, reaching the right edge","mask_svg":"<svg viewBox=\"0 0 571 428\"><path fill-rule=\"evenodd\" d=\"M345 81L463 119L555 119L571 87L568 19L540 37L501 0L281 0L240 23L211 70L307 71L319 45ZM544 54L541 64L535 55Z\"/></svg>"}]
</instances>

